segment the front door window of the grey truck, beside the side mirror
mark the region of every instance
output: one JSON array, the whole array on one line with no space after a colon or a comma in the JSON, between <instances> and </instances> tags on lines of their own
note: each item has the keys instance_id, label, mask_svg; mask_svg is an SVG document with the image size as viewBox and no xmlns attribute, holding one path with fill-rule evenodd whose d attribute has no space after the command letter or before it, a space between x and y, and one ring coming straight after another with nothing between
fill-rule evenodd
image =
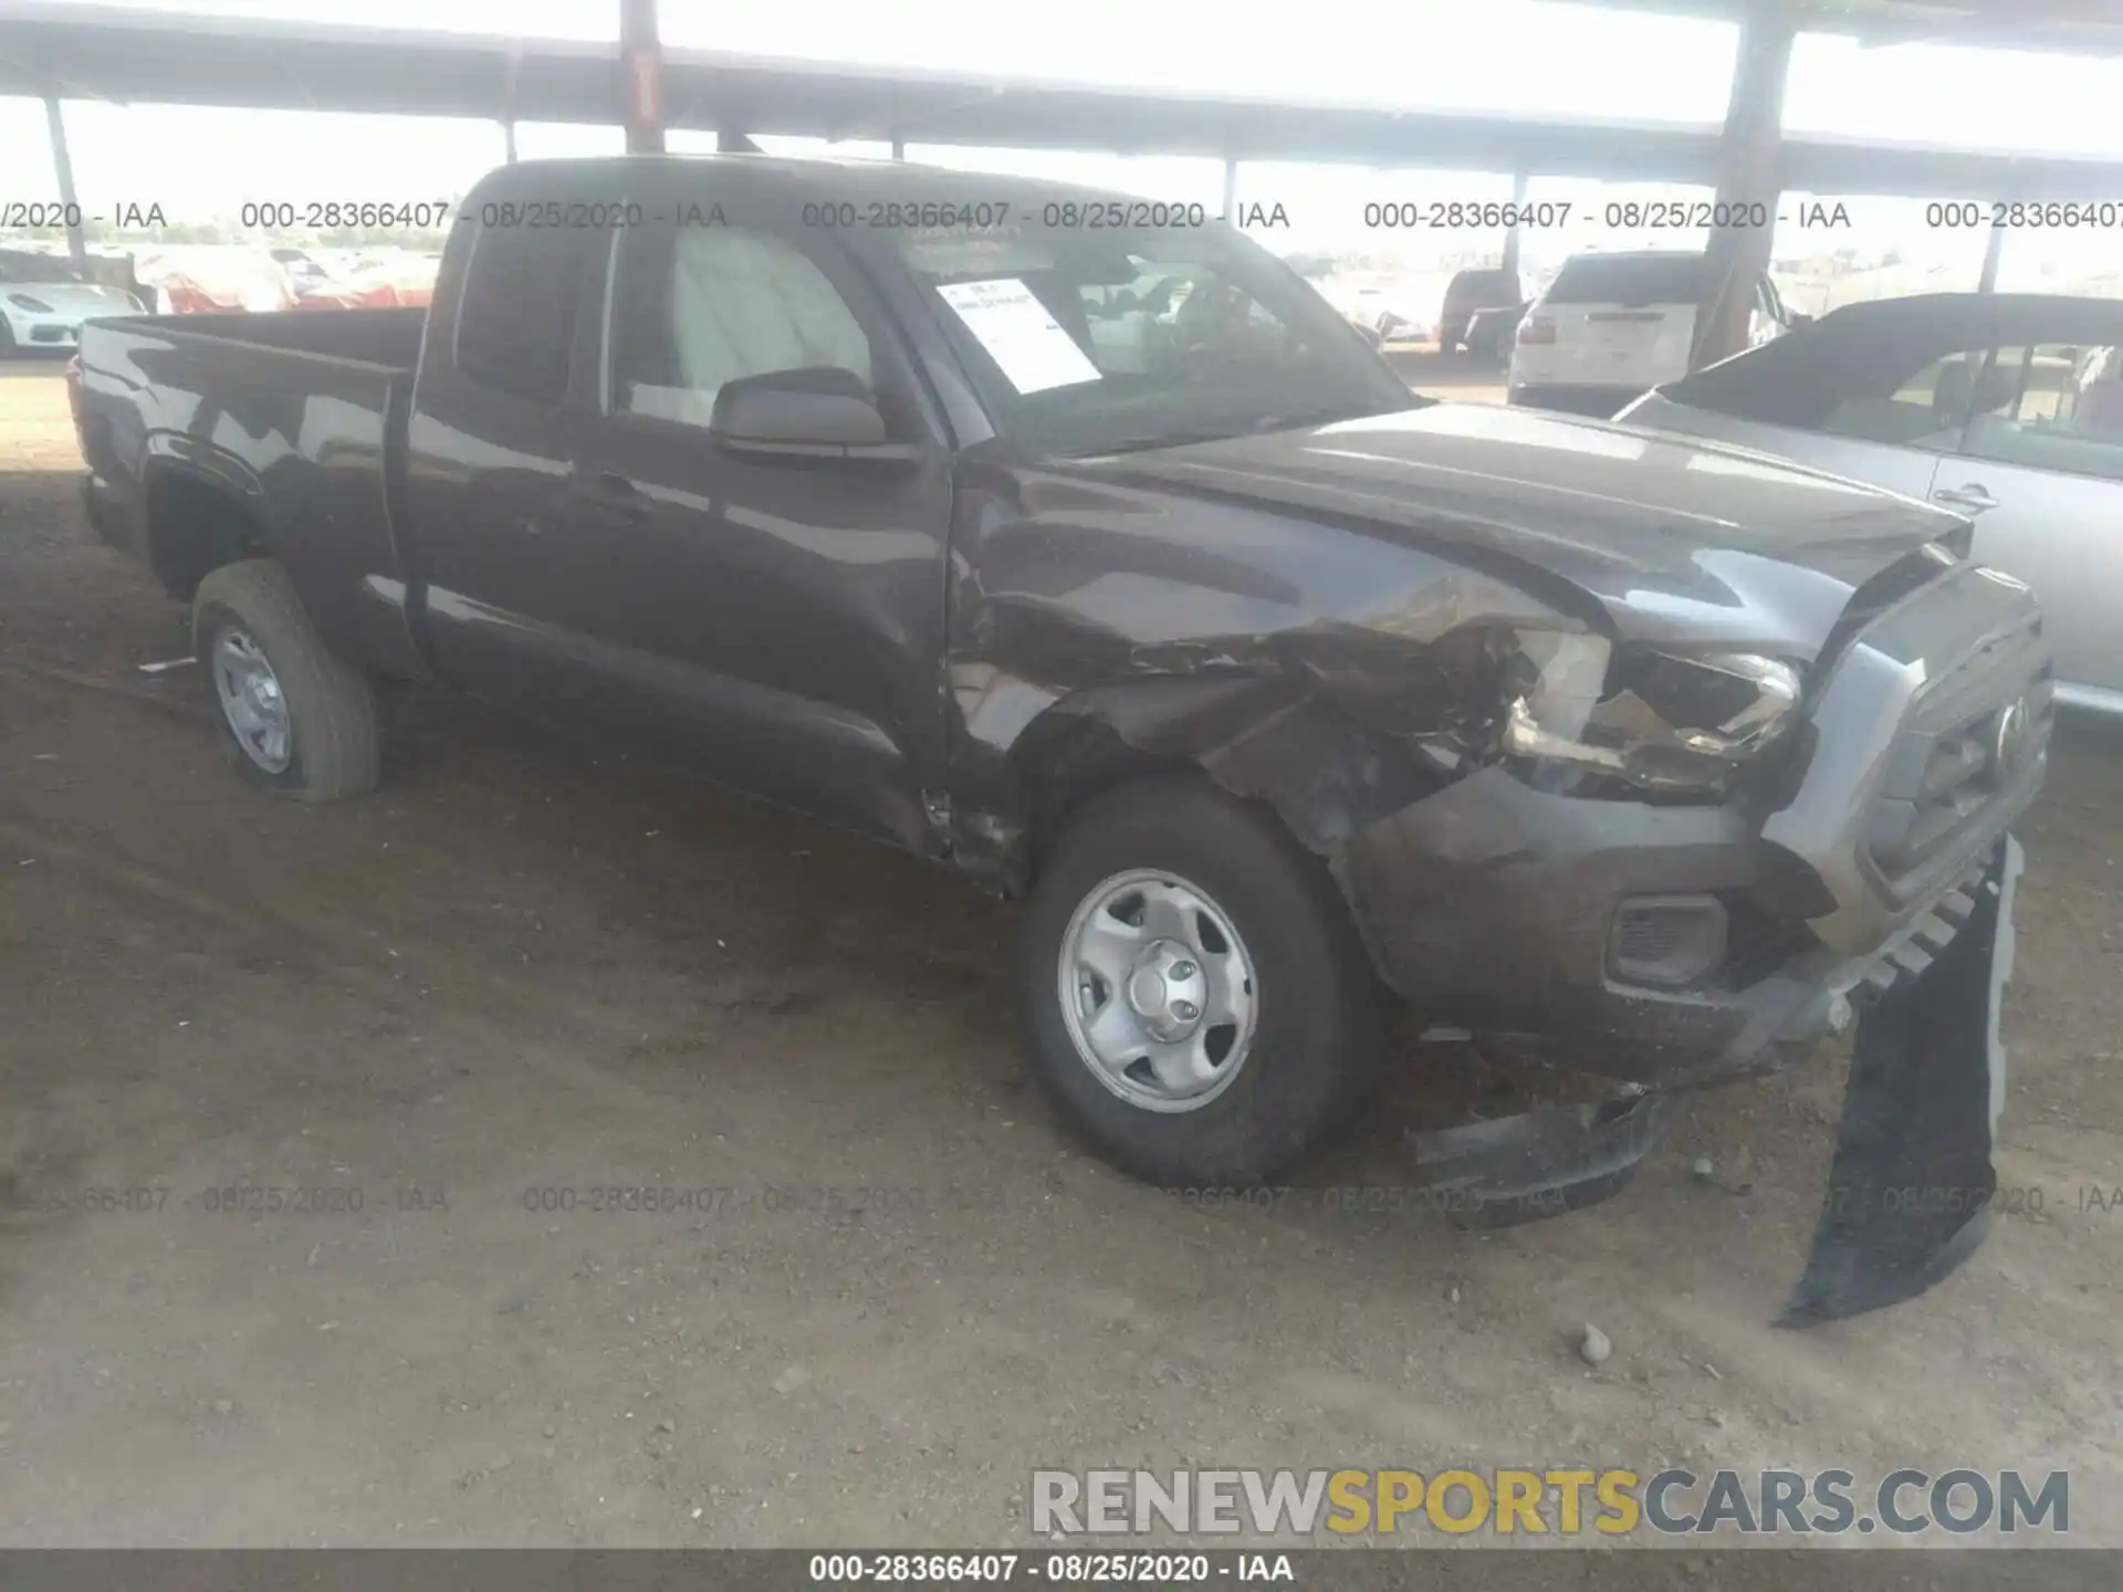
<instances>
[{"instance_id":1,"label":"front door window of the grey truck, beside the side mirror","mask_svg":"<svg viewBox=\"0 0 2123 1592\"><path fill-rule=\"evenodd\" d=\"M870 338L819 265L743 227L637 227L620 240L611 412L707 427L724 382L845 369L873 386Z\"/></svg>"}]
</instances>

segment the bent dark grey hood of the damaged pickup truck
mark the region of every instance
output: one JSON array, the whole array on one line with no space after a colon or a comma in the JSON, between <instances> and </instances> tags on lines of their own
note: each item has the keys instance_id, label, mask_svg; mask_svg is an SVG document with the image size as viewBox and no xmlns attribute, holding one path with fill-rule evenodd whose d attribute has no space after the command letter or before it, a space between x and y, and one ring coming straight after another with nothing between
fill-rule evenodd
<instances>
[{"instance_id":1,"label":"bent dark grey hood of the damaged pickup truck","mask_svg":"<svg viewBox=\"0 0 2123 1592\"><path fill-rule=\"evenodd\" d=\"M1616 635L1811 660L1955 516L1768 454L1471 403L1085 461L1565 582Z\"/></svg>"}]
</instances>

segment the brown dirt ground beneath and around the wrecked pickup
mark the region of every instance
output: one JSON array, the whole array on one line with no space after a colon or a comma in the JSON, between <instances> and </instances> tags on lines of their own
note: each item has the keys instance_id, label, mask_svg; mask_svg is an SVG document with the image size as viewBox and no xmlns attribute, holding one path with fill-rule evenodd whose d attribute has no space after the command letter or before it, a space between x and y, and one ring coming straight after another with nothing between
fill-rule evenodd
<instances>
[{"instance_id":1,"label":"brown dirt ground beneath and around the wrecked pickup","mask_svg":"<svg viewBox=\"0 0 2123 1592\"><path fill-rule=\"evenodd\" d=\"M8 369L0 1543L1028 1545L1049 1465L1690 1460L2070 1467L2123 1545L2117 732L2068 726L2023 832L2000 1180L2042 1212L1779 1333L1832 1055L1509 1233L1187 1208L1064 1138L1013 911L924 864L448 703L369 800L246 794L76 469ZM1459 1053L1304 1182L1403 1184ZM582 1208L639 1187L730 1193Z\"/></svg>"}]
</instances>

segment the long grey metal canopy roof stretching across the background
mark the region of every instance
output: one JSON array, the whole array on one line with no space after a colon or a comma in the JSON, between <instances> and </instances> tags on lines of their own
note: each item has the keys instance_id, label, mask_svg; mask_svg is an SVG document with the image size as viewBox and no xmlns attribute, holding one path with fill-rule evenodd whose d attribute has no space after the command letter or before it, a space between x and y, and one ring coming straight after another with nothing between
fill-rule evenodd
<instances>
[{"instance_id":1,"label":"long grey metal canopy roof stretching across the background","mask_svg":"<svg viewBox=\"0 0 2123 1592\"><path fill-rule=\"evenodd\" d=\"M1622 0L1732 15L1737 0ZM2030 6L2034 11L2034 6ZM510 83L514 76L514 98ZM0 0L0 93L616 123L618 42ZM1718 125L1484 117L664 51L671 127L1713 185ZM1785 136L1824 195L2123 197L2123 163Z\"/></svg>"}]
</instances>

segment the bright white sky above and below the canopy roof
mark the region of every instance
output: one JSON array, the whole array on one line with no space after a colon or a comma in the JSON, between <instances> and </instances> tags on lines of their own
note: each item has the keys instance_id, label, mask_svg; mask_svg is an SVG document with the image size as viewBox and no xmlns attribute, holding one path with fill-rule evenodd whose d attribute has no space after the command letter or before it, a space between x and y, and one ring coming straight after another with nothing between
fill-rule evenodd
<instances>
[{"instance_id":1,"label":"bright white sky above and below the canopy roof","mask_svg":"<svg viewBox=\"0 0 2123 1592\"><path fill-rule=\"evenodd\" d=\"M130 8L161 6L125 0ZM616 38L618 0L195 0L189 11L350 21L376 28L514 32L546 38ZM1299 25L1278 21L1301 17ZM1718 121L1724 115L1737 30L1684 17L1633 15L1546 0L662 0L673 47L758 55L921 66L1136 87L1185 87L1287 98L1475 113ZM1900 45L1864 51L1802 36L1794 51L1785 125L1860 138L2074 153L2123 159L2123 62L2013 51ZM70 102L68 140L83 202L159 200L172 219L231 214L244 200L448 197L501 159L490 123L316 113L106 106ZM802 140L762 144L800 151ZM673 134L675 149L707 136ZM49 197L42 106L0 100L0 149L11 191ZM518 127L518 153L580 155L620 149L616 127ZM851 153L885 153L847 144ZM1017 170L1100 183L1157 197L1216 204L1214 161L1119 159L909 146L911 159L972 170ZM25 157L21 163L13 157ZM42 193L38 189L42 187ZM1509 197L1495 174L1376 172L1361 168L1240 168L1240 200L1282 202L1301 248L1376 244L1363 204L1382 197ZM1573 200L1580 219L1620 189L1535 180L1533 200ZM1987 197L1987 195L1970 195ZM1981 233L1936 233L1921 206L1851 200L1851 233L1822 248L1898 246L1911 259L1974 270ZM1471 238L1471 244L1482 242ZM1531 238L1529 259L1639 242L1594 227ZM1681 242L1669 236L1664 242ZM1811 246L1785 229L1779 253ZM2023 238L2008 263L2036 257L2070 265L2115 257L2115 231Z\"/></svg>"}]
</instances>

